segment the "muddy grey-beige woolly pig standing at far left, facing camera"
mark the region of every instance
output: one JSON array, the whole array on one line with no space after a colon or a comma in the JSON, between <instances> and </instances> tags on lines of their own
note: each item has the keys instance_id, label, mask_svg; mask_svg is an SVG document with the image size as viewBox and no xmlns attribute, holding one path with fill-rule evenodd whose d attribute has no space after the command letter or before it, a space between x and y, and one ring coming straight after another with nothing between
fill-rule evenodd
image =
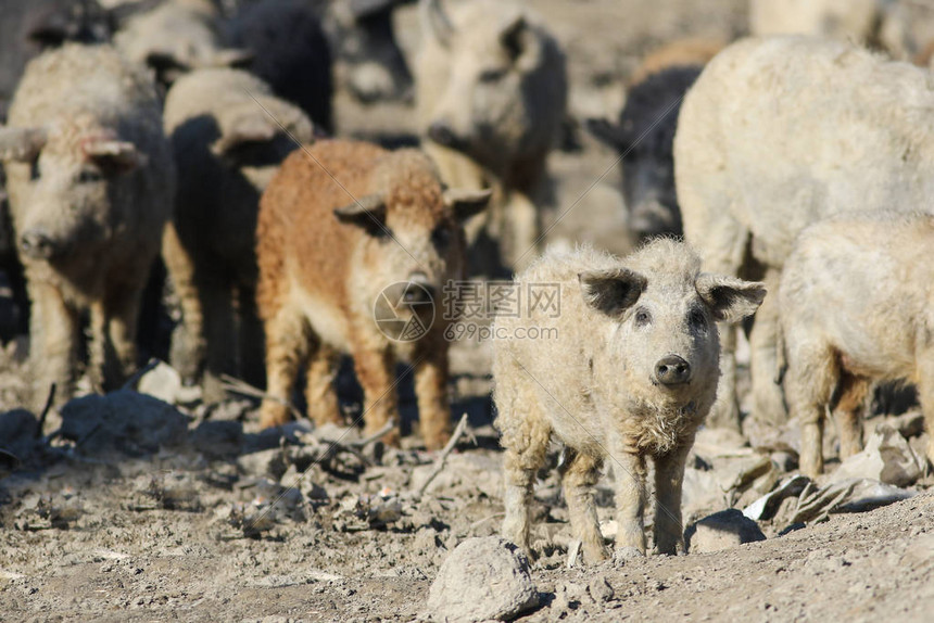
<instances>
[{"instance_id":1,"label":"muddy grey-beige woolly pig standing at far left, facing camera","mask_svg":"<svg viewBox=\"0 0 934 623\"><path fill-rule=\"evenodd\" d=\"M83 314L89 374L114 386L136 365L140 292L172 215L175 166L152 77L109 46L34 59L0 129L26 271L35 403L72 393Z\"/></svg>"}]
</instances>

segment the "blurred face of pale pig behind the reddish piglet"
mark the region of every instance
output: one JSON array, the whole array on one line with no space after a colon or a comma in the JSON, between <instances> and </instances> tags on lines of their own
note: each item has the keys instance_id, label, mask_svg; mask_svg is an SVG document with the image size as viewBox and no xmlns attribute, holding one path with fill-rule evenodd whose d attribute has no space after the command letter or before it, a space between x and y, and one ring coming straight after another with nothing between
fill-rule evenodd
<instances>
[{"instance_id":1,"label":"blurred face of pale pig behind the reddish piglet","mask_svg":"<svg viewBox=\"0 0 934 623\"><path fill-rule=\"evenodd\" d=\"M432 87L443 96L428 112L428 137L496 168L531 132L530 111L544 105L527 101L542 41L521 13L444 37L450 65Z\"/></svg>"}]
</instances>

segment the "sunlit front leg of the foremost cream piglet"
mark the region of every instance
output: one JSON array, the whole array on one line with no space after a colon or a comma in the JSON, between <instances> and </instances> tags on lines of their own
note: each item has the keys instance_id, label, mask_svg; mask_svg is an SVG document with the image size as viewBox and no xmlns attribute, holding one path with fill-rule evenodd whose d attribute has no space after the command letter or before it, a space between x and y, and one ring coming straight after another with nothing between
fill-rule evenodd
<instances>
[{"instance_id":1,"label":"sunlit front leg of the foremost cream piglet","mask_svg":"<svg viewBox=\"0 0 934 623\"><path fill-rule=\"evenodd\" d=\"M645 554L645 458L621 440L609 448L616 478L616 549Z\"/></svg>"}]
</instances>

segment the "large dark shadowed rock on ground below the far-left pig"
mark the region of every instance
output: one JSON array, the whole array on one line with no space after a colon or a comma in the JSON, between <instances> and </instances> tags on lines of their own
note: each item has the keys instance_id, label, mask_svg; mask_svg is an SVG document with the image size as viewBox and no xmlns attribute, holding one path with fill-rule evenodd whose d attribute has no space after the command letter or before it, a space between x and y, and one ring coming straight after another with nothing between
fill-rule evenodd
<instances>
[{"instance_id":1,"label":"large dark shadowed rock on ground below the far-left pig","mask_svg":"<svg viewBox=\"0 0 934 623\"><path fill-rule=\"evenodd\" d=\"M62 407L62 436L85 455L155 453L181 444L188 419L175 407L131 390L92 394Z\"/></svg>"}]
</instances>

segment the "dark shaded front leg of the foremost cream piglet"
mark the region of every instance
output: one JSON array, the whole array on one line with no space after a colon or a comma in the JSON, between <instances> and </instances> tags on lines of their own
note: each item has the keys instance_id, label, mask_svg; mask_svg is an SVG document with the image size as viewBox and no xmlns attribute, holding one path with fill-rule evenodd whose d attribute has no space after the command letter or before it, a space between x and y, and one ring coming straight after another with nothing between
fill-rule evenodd
<instances>
[{"instance_id":1,"label":"dark shaded front leg of the foremost cream piglet","mask_svg":"<svg viewBox=\"0 0 934 623\"><path fill-rule=\"evenodd\" d=\"M694 435L682 440L667 455L655 459L655 545L659 554L684 551L681 524L681 485L684 463L694 445Z\"/></svg>"}]
</instances>

